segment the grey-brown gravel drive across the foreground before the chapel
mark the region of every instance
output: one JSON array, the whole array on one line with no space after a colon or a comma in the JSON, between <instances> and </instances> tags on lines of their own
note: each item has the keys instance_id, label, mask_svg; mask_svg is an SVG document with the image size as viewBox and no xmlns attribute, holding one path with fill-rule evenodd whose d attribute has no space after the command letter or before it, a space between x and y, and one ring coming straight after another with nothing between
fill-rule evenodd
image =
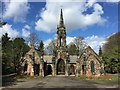
<instances>
[{"instance_id":1,"label":"grey-brown gravel drive across the foreground before the chapel","mask_svg":"<svg viewBox=\"0 0 120 90\"><path fill-rule=\"evenodd\" d=\"M41 79L19 80L4 88L117 88L118 82L78 80L74 76L47 76ZM4 89L3 89L4 90Z\"/></svg>"}]
</instances>

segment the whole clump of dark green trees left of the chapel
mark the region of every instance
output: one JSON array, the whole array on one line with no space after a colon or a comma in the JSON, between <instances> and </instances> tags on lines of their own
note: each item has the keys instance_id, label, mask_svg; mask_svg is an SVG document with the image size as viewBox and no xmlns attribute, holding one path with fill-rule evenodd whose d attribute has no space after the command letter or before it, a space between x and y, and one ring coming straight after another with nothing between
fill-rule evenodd
<instances>
[{"instance_id":1,"label":"whole clump of dark green trees left of the chapel","mask_svg":"<svg viewBox=\"0 0 120 90\"><path fill-rule=\"evenodd\" d=\"M11 40L8 34L2 36L2 74L18 73L20 58L29 50L23 38Z\"/></svg>"}]
</instances>

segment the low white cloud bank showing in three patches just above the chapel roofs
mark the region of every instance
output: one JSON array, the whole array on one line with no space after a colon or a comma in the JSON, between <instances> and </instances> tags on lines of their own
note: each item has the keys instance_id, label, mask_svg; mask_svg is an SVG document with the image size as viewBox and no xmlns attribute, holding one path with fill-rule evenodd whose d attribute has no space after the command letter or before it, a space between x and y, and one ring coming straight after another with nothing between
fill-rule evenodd
<instances>
[{"instance_id":1,"label":"low white cloud bank showing in three patches just above the chapel roofs","mask_svg":"<svg viewBox=\"0 0 120 90\"><path fill-rule=\"evenodd\" d=\"M71 42L74 41L76 37L70 37L67 36L66 37L66 43L67 45L69 45ZM49 45L49 43L52 41L52 39L48 39L46 41L44 41L44 45L45 47L47 47ZM102 46L105 42L106 42L106 38L105 37L100 37L97 35L92 35L92 36L88 36L84 38L84 41L87 45L89 45L96 53L98 53L99 51L99 46Z\"/></svg>"}]
</instances>

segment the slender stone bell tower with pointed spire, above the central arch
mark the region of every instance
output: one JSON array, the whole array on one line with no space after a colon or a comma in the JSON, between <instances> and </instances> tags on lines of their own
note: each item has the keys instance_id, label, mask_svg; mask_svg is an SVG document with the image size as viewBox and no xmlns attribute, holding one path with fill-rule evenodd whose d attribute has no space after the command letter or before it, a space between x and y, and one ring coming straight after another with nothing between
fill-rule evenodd
<instances>
[{"instance_id":1,"label":"slender stone bell tower with pointed spire, above the central arch","mask_svg":"<svg viewBox=\"0 0 120 90\"><path fill-rule=\"evenodd\" d=\"M59 25L57 25L57 50L66 51L66 29L61 9Z\"/></svg>"}]
</instances>

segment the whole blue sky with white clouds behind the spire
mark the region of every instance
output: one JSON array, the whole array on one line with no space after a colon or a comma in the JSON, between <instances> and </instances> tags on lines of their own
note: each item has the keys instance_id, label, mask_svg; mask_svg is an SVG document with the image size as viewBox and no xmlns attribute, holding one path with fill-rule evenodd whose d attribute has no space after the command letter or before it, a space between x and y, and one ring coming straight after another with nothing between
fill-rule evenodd
<instances>
[{"instance_id":1,"label":"whole blue sky with white clouds behind the spire","mask_svg":"<svg viewBox=\"0 0 120 90\"><path fill-rule=\"evenodd\" d=\"M11 38L28 39L36 32L45 46L56 39L60 9L67 31L67 44L75 37L83 36L96 52L110 35L118 31L117 2L4 2L2 18L7 22L0 31L0 37L7 32ZM1 14L1 13L0 13Z\"/></svg>"}]
</instances>

